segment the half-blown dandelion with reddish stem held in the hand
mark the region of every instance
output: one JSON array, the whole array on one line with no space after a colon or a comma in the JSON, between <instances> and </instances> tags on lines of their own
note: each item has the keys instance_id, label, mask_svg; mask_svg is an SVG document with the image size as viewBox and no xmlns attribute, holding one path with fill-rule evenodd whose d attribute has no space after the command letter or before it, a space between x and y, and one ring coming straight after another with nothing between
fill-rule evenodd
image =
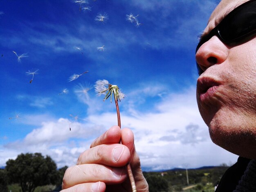
<instances>
[{"instance_id":1,"label":"half-blown dandelion with reddish stem held in the hand","mask_svg":"<svg viewBox=\"0 0 256 192\"><path fill-rule=\"evenodd\" d=\"M110 102L112 103L112 95L114 95L116 109L117 109L117 124L121 129L121 118L120 118L118 101L121 101L121 99L124 98L124 94L121 93L117 85L111 85L110 83L108 83L108 80L97 80L94 87L95 87L95 92L97 92L99 96L102 94L105 95L103 101L105 101L110 97ZM132 192L136 192L137 191L136 185L135 185L134 177L132 174L132 169L130 167L130 163L127 164L127 172L130 179Z\"/></svg>"}]
</instances>

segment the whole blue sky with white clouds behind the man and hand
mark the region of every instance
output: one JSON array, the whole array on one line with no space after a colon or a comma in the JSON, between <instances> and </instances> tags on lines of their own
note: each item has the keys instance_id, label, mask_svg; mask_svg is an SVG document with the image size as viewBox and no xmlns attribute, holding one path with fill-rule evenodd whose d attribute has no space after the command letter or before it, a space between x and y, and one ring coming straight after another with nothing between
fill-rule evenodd
<instances>
[{"instance_id":1,"label":"whole blue sky with white clouds behind the man and hand","mask_svg":"<svg viewBox=\"0 0 256 192\"><path fill-rule=\"evenodd\" d=\"M195 100L197 37L216 0L86 2L0 0L0 166L26 152L75 164L117 124L115 105L94 92L103 79L126 95L121 123L135 133L142 167L234 163L211 142Z\"/></svg>"}]
</instances>

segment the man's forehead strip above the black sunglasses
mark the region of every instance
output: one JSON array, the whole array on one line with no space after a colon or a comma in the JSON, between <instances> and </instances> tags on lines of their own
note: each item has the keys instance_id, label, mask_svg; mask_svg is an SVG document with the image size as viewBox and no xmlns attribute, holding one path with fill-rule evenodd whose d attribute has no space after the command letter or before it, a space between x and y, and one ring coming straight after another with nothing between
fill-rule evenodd
<instances>
[{"instance_id":1,"label":"man's forehead strip above the black sunglasses","mask_svg":"<svg viewBox=\"0 0 256 192\"><path fill-rule=\"evenodd\" d=\"M219 22L227 15L227 13L247 1L249 0L222 0L211 14L207 27L204 29L204 33L211 31L211 29L216 27L216 25L219 24Z\"/></svg>"}]
</instances>

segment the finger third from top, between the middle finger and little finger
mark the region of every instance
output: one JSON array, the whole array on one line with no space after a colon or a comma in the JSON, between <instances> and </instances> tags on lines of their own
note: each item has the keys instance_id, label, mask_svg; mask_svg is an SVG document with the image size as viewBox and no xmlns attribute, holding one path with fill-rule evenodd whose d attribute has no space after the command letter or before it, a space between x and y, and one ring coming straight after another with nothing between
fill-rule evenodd
<instances>
[{"instance_id":1,"label":"finger third from top, between the middle finger and little finger","mask_svg":"<svg viewBox=\"0 0 256 192\"><path fill-rule=\"evenodd\" d=\"M102 181L106 184L122 183L126 179L125 167L108 167L98 164L74 165L67 168L62 188L67 189L81 183Z\"/></svg>"}]
</instances>

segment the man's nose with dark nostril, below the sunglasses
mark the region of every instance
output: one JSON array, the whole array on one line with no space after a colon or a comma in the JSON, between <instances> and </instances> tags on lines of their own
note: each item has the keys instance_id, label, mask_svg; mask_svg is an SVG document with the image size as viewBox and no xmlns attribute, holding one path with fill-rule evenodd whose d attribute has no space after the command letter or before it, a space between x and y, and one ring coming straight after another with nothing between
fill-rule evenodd
<instances>
[{"instance_id":1,"label":"man's nose with dark nostril, below the sunglasses","mask_svg":"<svg viewBox=\"0 0 256 192\"><path fill-rule=\"evenodd\" d=\"M205 71L213 65L223 63L228 54L228 47L217 36L213 36L198 49L195 60L199 67Z\"/></svg>"}]
</instances>

